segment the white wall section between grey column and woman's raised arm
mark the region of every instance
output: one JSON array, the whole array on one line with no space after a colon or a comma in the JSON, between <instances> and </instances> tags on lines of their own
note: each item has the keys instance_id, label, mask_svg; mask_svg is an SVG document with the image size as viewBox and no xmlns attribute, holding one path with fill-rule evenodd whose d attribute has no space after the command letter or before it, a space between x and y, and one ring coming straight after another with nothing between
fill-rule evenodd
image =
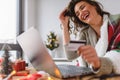
<instances>
[{"instance_id":1,"label":"white wall section between grey column and woman's raised arm","mask_svg":"<svg viewBox=\"0 0 120 80\"><path fill-rule=\"evenodd\" d=\"M62 30L60 28L59 14L65 8L69 0L37 0L37 26L44 41L47 34L54 31L60 43L58 48L59 57L64 57L62 45Z\"/></svg>"}]
</instances>

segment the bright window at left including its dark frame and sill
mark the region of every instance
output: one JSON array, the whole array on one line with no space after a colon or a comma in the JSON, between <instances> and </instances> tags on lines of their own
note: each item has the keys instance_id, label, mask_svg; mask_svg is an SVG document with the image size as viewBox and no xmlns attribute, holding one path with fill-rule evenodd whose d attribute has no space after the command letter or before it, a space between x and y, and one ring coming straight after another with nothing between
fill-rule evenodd
<instances>
[{"instance_id":1,"label":"bright window at left including its dark frame and sill","mask_svg":"<svg viewBox=\"0 0 120 80\"><path fill-rule=\"evenodd\" d=\"M15 52L12 52L12 56L16 55L16 50L21 51L21 48L16 44L19 21L21 21L19 18L20 4L21 0L0 1L0 49L5 43L8 43L12 48L11 50L15 50ZM16 56L20 55L17 54Z\"/></svg>"}]
</instances>

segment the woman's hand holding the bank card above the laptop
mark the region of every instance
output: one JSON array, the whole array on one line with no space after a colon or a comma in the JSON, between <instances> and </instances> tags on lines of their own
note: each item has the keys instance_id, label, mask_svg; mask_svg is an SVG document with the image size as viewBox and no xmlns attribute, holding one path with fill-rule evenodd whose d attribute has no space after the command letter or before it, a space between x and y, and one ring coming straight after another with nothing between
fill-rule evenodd
<instances>
[{"instance_id":1,"label":"woman's hand holding the bank card above the laptop","mask_svg":"<svg viewBox=\"0 0 120 80\"><path fill-rule=\"evenodd\" d=\"M100 59L97 56L95 48L90 45L81 46L78 49L78 54L96 70L100 68Z\"/></svg>"}]
</instances>

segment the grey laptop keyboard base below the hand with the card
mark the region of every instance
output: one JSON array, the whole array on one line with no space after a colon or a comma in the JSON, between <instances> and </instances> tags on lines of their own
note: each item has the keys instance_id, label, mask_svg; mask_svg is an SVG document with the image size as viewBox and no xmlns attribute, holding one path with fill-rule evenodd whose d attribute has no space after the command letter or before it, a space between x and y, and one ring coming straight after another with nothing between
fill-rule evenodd
<instances>
[{"instance_id":1,"label":"grey laptop keyboard base below the hand with the card","mask_svg":"<svg viewBox=\"0 0 120 80\"><path fill-rule=\"evenodd\" d=\"M74 65L57 65L61 74L64 77L75 77L75 76L83 76L92 73L92 70L88 67L78 67Z\"/></svg>"}]
</instances>

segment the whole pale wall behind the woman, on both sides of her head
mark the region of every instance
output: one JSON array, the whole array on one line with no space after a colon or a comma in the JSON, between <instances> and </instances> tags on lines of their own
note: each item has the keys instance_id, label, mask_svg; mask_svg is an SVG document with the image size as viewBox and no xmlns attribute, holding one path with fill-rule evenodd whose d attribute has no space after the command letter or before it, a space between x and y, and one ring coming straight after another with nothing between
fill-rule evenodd
<instances>
[{"instance_id":1,"label":"whole pale wall behind the woman, on both sides of her head","mask_svg":"<svg viewBox=\"0 0 120 80\"><path fill-rule=\"evenodd\" d=\"M60 12L70 0L25 0L25 26L35 26L40 31L43 40L46 40L50 31L58 35L60 47L59 57L64 57L62 45L62 30L58 19ZM120 0L97 0L104 9L112 14L120 13Z\"/></svg>"}]
</instances>

